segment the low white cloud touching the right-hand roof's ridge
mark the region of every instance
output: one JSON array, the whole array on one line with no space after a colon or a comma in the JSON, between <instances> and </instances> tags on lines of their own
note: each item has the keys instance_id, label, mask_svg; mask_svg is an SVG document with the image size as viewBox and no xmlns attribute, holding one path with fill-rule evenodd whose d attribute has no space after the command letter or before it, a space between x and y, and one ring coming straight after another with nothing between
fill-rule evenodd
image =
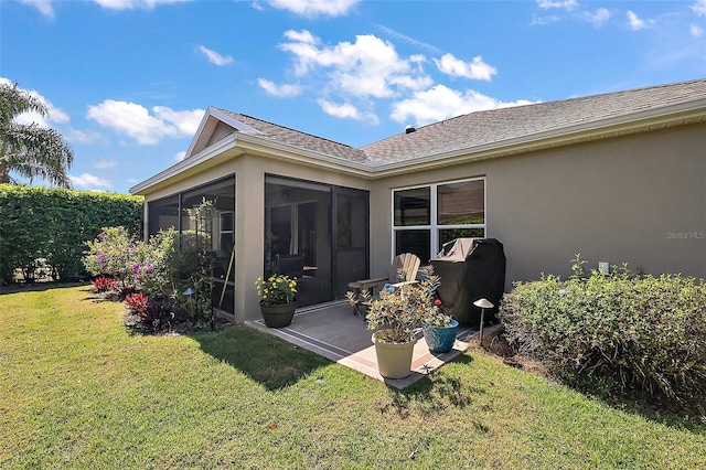
<instances>
[{"instance_id":1,"label":"low white cloud touching the right-hand roof's ridge","mask_svg":"<svg viewBox=\"0 0 706 470\"><path fill-rule=\"evenodd\" d=\"M415 93L413 98L395 103L389 117L397 122L409 122L411 118L416 125L424 126L468 113L531 103L524 99L506 103L472 89L461 93L445 85L436 85Z\"/></svg>"}]
</instances>

